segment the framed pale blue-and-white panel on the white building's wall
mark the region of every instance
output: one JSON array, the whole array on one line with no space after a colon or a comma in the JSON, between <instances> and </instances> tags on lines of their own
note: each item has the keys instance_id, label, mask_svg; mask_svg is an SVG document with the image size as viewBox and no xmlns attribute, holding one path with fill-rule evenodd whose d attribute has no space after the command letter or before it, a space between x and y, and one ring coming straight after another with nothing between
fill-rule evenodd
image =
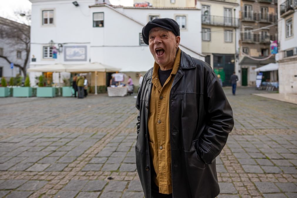
<instances>
[{"instance_id":1,"label":"framed pale blue-and-white panel on the white building's wall","mask_svg":"<svg viewBox=\"0 0 297 198\"><path fill-rule=\"evenodd\" d=\"M64 46L64 61L87 61L87 46Z\"/></svg>"}]
</instances>

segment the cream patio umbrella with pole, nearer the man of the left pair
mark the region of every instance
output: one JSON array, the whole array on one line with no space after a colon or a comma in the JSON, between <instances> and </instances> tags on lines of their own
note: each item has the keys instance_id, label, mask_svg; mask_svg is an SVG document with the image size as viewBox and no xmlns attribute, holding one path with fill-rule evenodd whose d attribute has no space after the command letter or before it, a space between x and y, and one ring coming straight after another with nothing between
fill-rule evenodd
<instances>
[{"instance_id":1,"label":"cream patio umbrella with pole, nearer the man of the left pair","mask_svg":"<svg viewBox=\"0 0 297 198\"><path fill-rule=\"evenodd\" d=\"M112 67L98 62L73 65L66 68L66 72L95 72L95 95L97 95L97 72L118 72L121 68Z\"/></svg>"}]
</instances>

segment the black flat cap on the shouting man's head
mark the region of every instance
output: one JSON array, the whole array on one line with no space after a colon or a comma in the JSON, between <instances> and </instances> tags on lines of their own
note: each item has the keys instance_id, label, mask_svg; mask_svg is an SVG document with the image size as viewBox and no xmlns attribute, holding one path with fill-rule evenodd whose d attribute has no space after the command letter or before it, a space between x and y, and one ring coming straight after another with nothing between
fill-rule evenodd
<instances>
[{"instance_id":1,"label":"black flat cap on the shouting man's head","mask_svg":"<svg viewBox=\"0 0 297 198\"><path fill-rule=\"evenodd\" d=\"M149 45L149 31L156 27L164 28L172 31L175 36L180 36L179 26L175 20L170 18L154 19L142 28L142 39L146 45Z\"/></svg>"}]
</instances>

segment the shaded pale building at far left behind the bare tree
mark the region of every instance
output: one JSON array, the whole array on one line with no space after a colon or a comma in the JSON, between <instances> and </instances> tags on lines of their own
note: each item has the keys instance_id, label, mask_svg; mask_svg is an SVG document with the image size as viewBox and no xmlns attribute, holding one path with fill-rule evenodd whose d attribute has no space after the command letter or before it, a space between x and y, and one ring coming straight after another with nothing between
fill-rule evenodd
<instances>
[{"instance_id":1,"label":"shaded pale building at far left behind the bare tree","mask_svg":"<svg viewBox=\"0 0 297 198\"><path fill-rule=\"evenodd\" d=\"M26 59L26 51L24 51L25 47L19 42L18 39L7 35L7 31L5 31L5 29L8 28L8 26L6 24L10 24L12 27L30 27L0 17L0 56L6 57L13 64L19 64L23 66ZM27 67L28 66L29 61L27 63ZM13 66L13 68L11 68L10 63L6 59L0 57L0 78L5 77L8 81L10 77L15 77L17 74L21 74L23 76L23 73L18 67Z\"/></svg>"}]
</instances>

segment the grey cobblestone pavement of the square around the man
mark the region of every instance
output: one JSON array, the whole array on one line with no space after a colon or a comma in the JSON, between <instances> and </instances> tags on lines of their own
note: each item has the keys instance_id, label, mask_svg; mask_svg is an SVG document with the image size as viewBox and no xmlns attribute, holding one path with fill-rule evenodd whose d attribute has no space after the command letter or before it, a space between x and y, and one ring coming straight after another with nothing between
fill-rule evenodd
<instances>
[{"instance_id":1,"label":"grey cobblestone pavement of the square around the man","mask_svg":"<svg viewBox=\"0 0 297 198\"><path fill-rule=\"evenodd\" d=\"M220 198L297 197L297 105L225 88ZM133 96L0 99L0 198L140 198Z\"/></svg>"}]
</instances>

